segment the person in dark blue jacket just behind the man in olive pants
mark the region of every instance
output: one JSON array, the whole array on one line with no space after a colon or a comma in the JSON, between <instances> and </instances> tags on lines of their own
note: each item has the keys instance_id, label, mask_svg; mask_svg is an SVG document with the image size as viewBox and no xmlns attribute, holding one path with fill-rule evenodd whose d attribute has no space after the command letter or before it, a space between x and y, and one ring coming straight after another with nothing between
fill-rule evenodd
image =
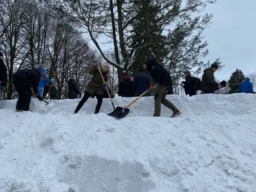
<instances>
[{"instance_id":1,"label":"person in dark blue jacket just behind the man in olive pants","mask_svg":"<svg viewBox=\"0 0 256 192\"><path fill-rule=\"evenodd\" d=\"M140 72L134 77L132 84L132 96L139 97L150 87L150 79L145 73L145 69L141 68ZM147 94L145 94L147 96Z\"/></svg>"}]
</instances>

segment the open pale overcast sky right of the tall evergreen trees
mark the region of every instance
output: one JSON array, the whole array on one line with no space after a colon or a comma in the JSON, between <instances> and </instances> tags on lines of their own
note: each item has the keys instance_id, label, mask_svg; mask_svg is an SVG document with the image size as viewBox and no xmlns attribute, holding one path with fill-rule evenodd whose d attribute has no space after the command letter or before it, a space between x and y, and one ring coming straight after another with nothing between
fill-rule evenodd
<instances>
[{"instance_id":1,"label":"open pale overcast sky right of the tall evergreen trees","mask_svg":"<svg viewBox=\"0 0 256 192\"><path fill-rule=\"evenodd\" d=\"M215 72L219 80L229 79L236 68L244 75L256 72L256 0L219 0L204 12L212 13L212 24L205 29L209 43L206 60L220 58L225 67Z\"/></svg>"}]
</instances>

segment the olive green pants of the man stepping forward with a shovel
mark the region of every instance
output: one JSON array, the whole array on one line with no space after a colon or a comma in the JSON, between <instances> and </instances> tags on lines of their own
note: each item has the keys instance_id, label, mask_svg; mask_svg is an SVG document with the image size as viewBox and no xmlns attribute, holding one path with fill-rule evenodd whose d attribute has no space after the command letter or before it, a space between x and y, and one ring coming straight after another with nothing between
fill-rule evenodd
<instances>
[{"instance_id":1,"label":"olive green pants of the man stepping forward with a shovel","mask_svg":"<svg viewBox=\"0 0 256 192\"><path fill-rule=\"evenodd\" d=\"M172 111L177 111L177 108L170 102L169 100L165 99L166 94L168 93L170 86L160 85L158 90L154 95L155 100L155 116L161 115L161 104L166 106L166 108L171 109Z\"/></svg>"}]
</instances>

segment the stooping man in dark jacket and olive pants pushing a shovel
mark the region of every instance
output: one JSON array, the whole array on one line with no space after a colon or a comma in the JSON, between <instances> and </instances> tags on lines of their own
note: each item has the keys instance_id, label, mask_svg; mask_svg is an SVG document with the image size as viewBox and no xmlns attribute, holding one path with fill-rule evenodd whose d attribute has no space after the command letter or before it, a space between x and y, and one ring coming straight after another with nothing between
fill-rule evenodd
<instances>
[{"instance_id":1,"label":"stooping man in dark jacket and olive pants pushing a shovel","mask_svg":"<svg viewBox=\"0 0 256 192\"><path fill-rule=\"evenodd\" d=\"M154 95L155 100L155 113L154 116L161 115L161 104L166 106L166 108L171 109L173 114L171 117L180 115L179 109L177 109L172 102L165 99L170 86L172 85L172 77L169 72L160 65L156 60L150 59L144 61L143 67L150 72L150 75L154 79L154 86L156 86L156 93Z\"/></svg>"}]
</instances>

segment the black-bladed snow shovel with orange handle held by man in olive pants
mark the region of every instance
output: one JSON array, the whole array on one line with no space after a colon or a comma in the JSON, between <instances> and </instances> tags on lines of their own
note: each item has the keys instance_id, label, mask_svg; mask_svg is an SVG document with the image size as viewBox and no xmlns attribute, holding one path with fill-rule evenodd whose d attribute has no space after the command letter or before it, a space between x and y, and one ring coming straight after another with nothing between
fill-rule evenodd
<instances>
[{"instance_id":1,"label":"black-bladed snow shovel with orange handle held by man in olive pants","mask_svg":"<svg viewBox=\"0 0 256 192\"><path fill-rule=\"evenodd\" d=\"M140 95L140 97L142 97L143 95L145 95L147 92L149 92L150 90L153 90L154 88L156 88L156 85L154 86L150 86L150 88L148 88L147 91L145 91L144 93L142 93ZM129 105L125 106L124 108L122 107L117 107L112 113L109 113L109 116L113 116L117 119L119 118L123 118L126 115L128 115L130 113L130 109L128 109L132 104L134 104L134 102L136 102L138 99L140 99L140 97L137 97L136 99L134 99Z\"/></svg>"}]
</instances>

